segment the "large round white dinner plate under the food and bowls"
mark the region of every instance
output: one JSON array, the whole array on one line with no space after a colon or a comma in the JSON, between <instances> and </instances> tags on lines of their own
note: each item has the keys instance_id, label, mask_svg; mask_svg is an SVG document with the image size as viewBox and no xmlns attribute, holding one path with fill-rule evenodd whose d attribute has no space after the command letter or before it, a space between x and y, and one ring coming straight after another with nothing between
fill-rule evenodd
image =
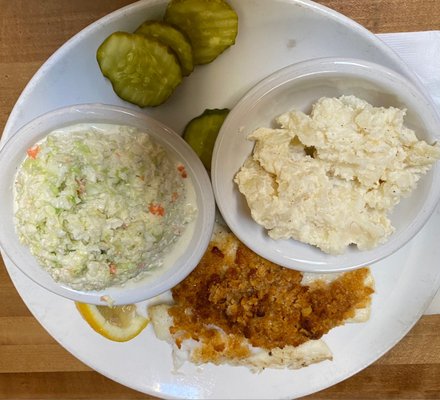
<instances>
[{"instance_id":1,"label":"large round white dinner plate under the food and bowls","mask_svg":"<svg viewBox=\"0 0 440 400\"><path fill-rule=\"evenodd\" d=\"M307 0L230 0L239 15L236 44L213 63L198 66L164 105L144 112L181 132L206 108L233 107L265 76L289 64L316 57L351 57L376 62L411 77L402 61L379 39L348 18ZM62 46L23 91L3 139L33 119L61 106L118 99L96 63L100 43L112 32L135 30L161 18L165 0L141 1L92 24ZM134 106L130 106L134 107ZM136 108L136 107L134 107ZM173 368L171 347L148 326L126 343L95 333L74 303L50 293L5 258L11 278L34 316L68 351L103 375L163 398L285 399L329 387L377 360L418 320L440 285L440 214L393 256L371 267L376 281L371 318L324 336L333 360L300 370L244 367ZM426 251L429 249L429 252ZM139 309L145 312L146 303Z\"/></svg>"}]
</instances>

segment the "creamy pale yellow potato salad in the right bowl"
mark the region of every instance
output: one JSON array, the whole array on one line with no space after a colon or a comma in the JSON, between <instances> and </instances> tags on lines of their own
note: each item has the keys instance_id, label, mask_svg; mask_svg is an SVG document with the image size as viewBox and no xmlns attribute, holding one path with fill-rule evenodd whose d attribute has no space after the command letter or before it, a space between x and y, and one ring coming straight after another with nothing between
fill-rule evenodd
<instances>
[{"instance_id":1,"label":"creamy pale yellow potato salad in the right bowl","mask_svg":"<svg viewBox=\"0 0 440 400\"><path fill-rule=\"evenodd\" d=\"M253 153L235 176L253 219L273 239L331 254L384 243L394 231L388 214L440 158L439 144L419 140L404 116L342 96L255 130Z\"/></svg>"}]
</instances>

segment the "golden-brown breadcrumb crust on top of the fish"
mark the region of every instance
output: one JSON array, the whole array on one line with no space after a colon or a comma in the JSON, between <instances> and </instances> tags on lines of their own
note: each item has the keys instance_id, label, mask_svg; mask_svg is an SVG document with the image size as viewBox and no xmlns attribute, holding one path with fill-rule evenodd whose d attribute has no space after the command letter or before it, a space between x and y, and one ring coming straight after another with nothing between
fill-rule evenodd
<instances>
[{"instance_id":1,"label":"golden-brown breadcrumb crust on top of the fish","mask_svg":"<svg viewBox=\"0 0 440 400\"><path fill-rule=\"evenodd\" d=\"M202 342L198 358L247 357L251 343L274 349L319 339L366 307L373 289L367 268L330 284L301 285L302 274L269 262L238 242L234 258L214 243L197 268L173 290L172 334ZM227 334L221 334L221 330ZM247 340L244 340L246 338Z\"/></svg>"}]
</instances>

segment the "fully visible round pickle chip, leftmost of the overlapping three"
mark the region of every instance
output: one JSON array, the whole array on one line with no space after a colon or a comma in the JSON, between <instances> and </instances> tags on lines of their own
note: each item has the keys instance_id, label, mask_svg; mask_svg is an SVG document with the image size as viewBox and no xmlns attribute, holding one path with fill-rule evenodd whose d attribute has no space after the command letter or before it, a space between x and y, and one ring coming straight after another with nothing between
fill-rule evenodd
<instances>
[{"instance_id":1,"label":"fully visible round pickle chip, leftmost of the overlapping three","mask_svg":"<svg viewBox=\"0 0 440 400\"><path fill-rule=\"evenodd\" d=\"M156 39L134 33L112 33L96 58L113 90L140 107L165 102L182 81L174 52Z\"/></svg>"}]
</instances>

